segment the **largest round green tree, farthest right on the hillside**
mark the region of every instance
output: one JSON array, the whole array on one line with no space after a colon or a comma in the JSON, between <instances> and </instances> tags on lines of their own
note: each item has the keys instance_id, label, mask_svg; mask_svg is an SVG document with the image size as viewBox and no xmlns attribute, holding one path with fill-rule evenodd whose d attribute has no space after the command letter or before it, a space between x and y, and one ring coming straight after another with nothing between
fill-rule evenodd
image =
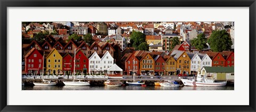
<instances>
[{"instance_id":1,"label":"largest round green tree, farthest right on the hillside","mask_svg":"<svg viewBox=\"0 0 256 112\"><path fill-rule=\"evenodd\" d=\"M212 31L212 35L208 39L208 43L214 52L229 50L231 45L233 45L231 38L226 30Z\"/></svg>"}]
</instances>

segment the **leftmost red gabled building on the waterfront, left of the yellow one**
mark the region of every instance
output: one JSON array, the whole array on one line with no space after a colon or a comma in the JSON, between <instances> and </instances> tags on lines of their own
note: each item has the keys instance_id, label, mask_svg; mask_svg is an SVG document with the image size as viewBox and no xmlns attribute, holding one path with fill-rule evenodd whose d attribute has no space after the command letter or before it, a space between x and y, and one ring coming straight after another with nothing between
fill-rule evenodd
<instances>
[{"instance_id":1,"label":"leftmost red gabled building on the waterfront, left of the yellow one","mask_svg":"<svg viewBox=\"0 0 256 112\"><path fill-rule=\"evenodd\" d=\"M25 55L25 72L26 74L40 74L43 68L43 52L34 47Z\"/></svg>"}]
</instances>

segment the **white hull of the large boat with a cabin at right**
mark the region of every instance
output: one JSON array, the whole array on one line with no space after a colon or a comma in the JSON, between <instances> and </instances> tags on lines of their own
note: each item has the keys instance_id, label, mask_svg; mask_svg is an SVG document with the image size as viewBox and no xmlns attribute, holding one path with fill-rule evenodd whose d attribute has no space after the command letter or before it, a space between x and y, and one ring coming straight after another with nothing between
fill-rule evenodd
<instances>
[{"instance_id":1,"label":"white hull of the large boat with a cabin at right","mask_svg":"<svg viewBox=\"0 0 256 112\"><path fill-rule=\"evenodd\" d=\"M226 86L227 85L227 82L207 83L207 82L190 81L188 79L181 79L181 81L185 86Z\"/></svg>"}]
</instances>

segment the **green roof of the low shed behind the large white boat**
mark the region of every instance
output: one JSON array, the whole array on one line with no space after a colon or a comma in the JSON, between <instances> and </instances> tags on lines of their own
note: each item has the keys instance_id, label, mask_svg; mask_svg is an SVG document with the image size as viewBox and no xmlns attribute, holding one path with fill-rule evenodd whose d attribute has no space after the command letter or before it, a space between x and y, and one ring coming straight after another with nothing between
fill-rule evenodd
<instances>
[{"instance_id":1,"label":"green roof of the low shed behind the large white boat","mask_svg":"<svg viewBox=\"0 0 256 112\"><path fill-rule=\"evenodd\" d=\"M234 73L234 67L203 67L207 73Z\"/></svg>"}]
</instances>

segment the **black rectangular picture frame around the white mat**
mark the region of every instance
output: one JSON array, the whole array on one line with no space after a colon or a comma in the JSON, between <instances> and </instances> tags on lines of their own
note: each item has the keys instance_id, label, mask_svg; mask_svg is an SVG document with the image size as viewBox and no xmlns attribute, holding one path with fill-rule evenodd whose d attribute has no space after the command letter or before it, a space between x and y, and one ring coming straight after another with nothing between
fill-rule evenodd
<instances>
[{"instance_id":1,"label":"black rectangular picture frame around the white mat","mask_svg":"<svg viewBox=\"0 0 256 112\"><path fill-rule=\"evenodd\" d=\"M1 111L255 111L255 0L0 0ZM250 7L250 105L248 106L9 106L7 103L7 7ZM247 44L247 43L245 43ZM237 96L239 97L239 96ZM58 103L58 102L57 102Z\"/></svg>"}]
</instances>

